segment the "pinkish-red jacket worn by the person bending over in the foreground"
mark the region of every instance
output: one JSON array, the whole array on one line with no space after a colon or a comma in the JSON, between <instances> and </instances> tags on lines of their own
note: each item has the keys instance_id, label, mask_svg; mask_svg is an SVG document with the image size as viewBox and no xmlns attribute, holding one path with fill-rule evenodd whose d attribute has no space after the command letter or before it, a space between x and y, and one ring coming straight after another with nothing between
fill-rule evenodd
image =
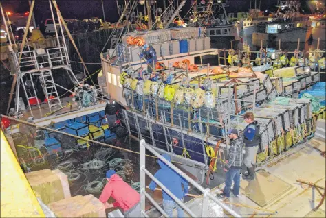
<instances>
[{"instance_id":1,"label":"pinkish-red jacket worn by the person bending over in the foreground","mask_svg":"<svg viewBox=\"0 0 326 218\"><path fill-rule=\"evenodd\" d=\"M100 195L100 202L105 204L110 197L116 200L113 206L119 206L124 212L140 202L140 194L117 174L112 175L105 185Z\"/></svg>"}]
</instances>

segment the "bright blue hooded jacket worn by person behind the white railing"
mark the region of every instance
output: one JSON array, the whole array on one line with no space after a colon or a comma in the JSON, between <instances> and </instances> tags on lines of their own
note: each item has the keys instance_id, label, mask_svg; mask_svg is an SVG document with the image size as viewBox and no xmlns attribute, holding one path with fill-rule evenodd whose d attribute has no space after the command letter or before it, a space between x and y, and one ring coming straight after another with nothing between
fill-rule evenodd
<instances>
[{"instance_id":1,"label":"bright blue hooded jacket worn by person behind the white railing","mask_svg":"<svg viewBox=\"0 0 326 218\"><path fill-rule=\"evenodd\" d=\"M166 160L171 162L171 157L168 154L162 155ZM161 169L159 169L154 177L157 178L164 186L166 186L166 189L169 189L175 197L178 199L182 199L186 193L188 193L189 190L189 184L182 176L177 174L173 169L171 169L169 166L167 166L164 162L161 160L158 160L158 164L160 165ZM156 183L152 181L149 184L149 189L154 190L156 188ZM184 189L182 190L182 185L184 186ZM163 192L163 199L168 201L173 201L173 199L165 192Z\"/></svg>"}]
</instances>

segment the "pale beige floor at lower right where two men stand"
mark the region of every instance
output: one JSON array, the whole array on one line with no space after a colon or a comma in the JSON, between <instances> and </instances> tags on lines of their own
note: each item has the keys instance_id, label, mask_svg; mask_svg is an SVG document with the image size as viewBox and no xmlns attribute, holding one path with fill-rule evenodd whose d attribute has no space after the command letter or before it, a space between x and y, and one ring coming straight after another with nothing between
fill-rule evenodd
<instances>
[{"instance_id":1,"label":"pale beige floor at lower right where two men stand","mask_svg":"<svg viewBox=\"0 0 326 218\"><path fill-rule=\"evenodd\" d=\"M325 136L314 137L266 162L257 168L255 180L241 180L240 197L233 197L231 194L229 199L231 203L276 210L278 213L270 214L240 206L230 207L243 217L325 217L325 201L318 210L313 210L322 198L318 191L296 182L297 179L302 179L325 186L325 158L312 146L325 151ZM224 184L221 184L211 189L211 192L217 193L223 186ZM324 190L320 191L323 193ZM202 198L192 199L186 205L200 216ZM210 201L209 208L208 217L228 217L226 211L215 202Z\"/></svg>"}]
</instances>

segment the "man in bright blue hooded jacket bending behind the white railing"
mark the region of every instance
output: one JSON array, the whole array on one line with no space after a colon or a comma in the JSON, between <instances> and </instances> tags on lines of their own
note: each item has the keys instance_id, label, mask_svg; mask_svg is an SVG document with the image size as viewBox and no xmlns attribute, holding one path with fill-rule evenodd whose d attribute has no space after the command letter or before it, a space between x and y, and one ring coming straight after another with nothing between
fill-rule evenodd
<instances>
[{"instance_id":1,"label":"man in bright blue hooded jacket bending behind the white railing","mask_svg":"<svg viewBox=\"0 0 326 218\"><path fill-rule=\"evenodd\" d=\"M171 157L168 154L162 155L166 160L171 162ZM167 166L164 162L161 160L158 160L158 164L160 165L161 169L159 169L155 173L155 178L162 182L164 186L166 186L166 189L169 189L175 197L179 198L180 200L184 200L184 197L186 197L189 189L189 184L184 178L182 178L179 174L177 174L173 169L171 169L169 166ZM184 186L184 189L182 190L182 185ZM152 181L149 184L149 189L154 191L156 188L156 183ZM184 210L175 203L175 201L165 192L163 192L163 208L164 211L169 215L169 217L172 217L172 211L174 208L177 208L177 217L184 217Z\"/></svg>"}]
</instances>

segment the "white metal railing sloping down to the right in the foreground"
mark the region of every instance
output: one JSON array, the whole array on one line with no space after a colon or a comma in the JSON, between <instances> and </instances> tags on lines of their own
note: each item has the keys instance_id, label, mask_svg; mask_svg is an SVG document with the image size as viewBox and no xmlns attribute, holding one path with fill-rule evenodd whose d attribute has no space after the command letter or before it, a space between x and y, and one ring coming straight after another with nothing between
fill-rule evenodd
<instances>
[{"instance_id":1,"label":"white metal railing sloping down to the right in the foreground","mask_svg":"<svg viewBox=\"0 0 326 218\"><path fill-rule=\"evenodd\" d=\"M153 174L151 174L146 169L146 167L145 167L146 149L148 149L149 152L151 152L153 155L157 156L157 158L159 158L162 162L164 162L166 165L171 167L171 169L173 169L176 173L178 173L180 176L182 176L187 182L191 183L193 186L195 186L196 189L198 189L200 192L203 193L203 199L202 199L202 202L203 202L202 205L203 206L202 206L201 215L199 217L207 217L208 208L209 208L209 199L213 200L213 202L215 202L216 204L221 206L221 208L224 208L224 210L228 211L228 213L230 213L234 217L241 217L239 215L239 213L235 212L235 210L232 210L232 208L230 208L229 206L226 206L226 204L223 204L219 199L217 199L217 197L214 197L210 193L210 189L204 189L201 185L199 185L197 182L195 182L195 180L191 179L188 175L186 175L186 173L184 173L183 171L181 171L180 169L175 167L173 164L171 164L171 162L169 162L163 156L161 156L158 152L156 152L155 149L153 149L151 147L151 145L148 145L144 141L144 139L142 139L140 141L140 208L141 208L140 209L140 217L149 217L145 212L145 199L146 199L146 197L155 206L155 208L157 208L157 210L159 210L160 213L162 213L162 215L164 215L164 217L169 217L164 212L163 208L160 207L157 204L157 202L155 202L155 200L151 197L151 195L146 193L146 190L145 190L146 189L146 184L145 184L146 175L148 175L149 178L151 178L157 185L159 185L161 187L161 189L163 191L165 191L182 209L186 210L186 212L189 215L191 215L191 217L198 217L197 215L195 215L195 213L193 213L193 211L191 211L190 208L188 208L188 206L186 206L186 204L184 204L184 202L182 202L180 199L175 197L175 195L173 195L173 193L171 193L171 191L169 191L169 189L167 189L166 186L164 186L159 180L157 180L154 177Z\"/></svg>"}]
</instances>

